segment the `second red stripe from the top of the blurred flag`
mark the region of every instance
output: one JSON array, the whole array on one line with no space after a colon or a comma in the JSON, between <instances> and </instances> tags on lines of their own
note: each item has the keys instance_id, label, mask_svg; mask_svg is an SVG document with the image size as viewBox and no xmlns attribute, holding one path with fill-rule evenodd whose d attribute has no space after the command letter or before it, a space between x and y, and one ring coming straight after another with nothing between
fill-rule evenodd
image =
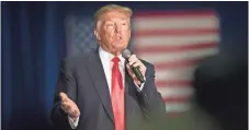
<instances>
[{"instance_id":1,"label":"second red stripe from the top of the blurred flag","mask_svg":"<svg viewBox=\"0 0 249 130\"><path fill-rule=\"evenodd\" d=\"M185 29L150 29L150 31L137 31L134 32L136 37L140 36L159 36L159 35L174 35L174 36L185 36L185 35L203 35L203 34L214 34L218 33L218 28L185 28Z\"/></svg>"}]
</instances>

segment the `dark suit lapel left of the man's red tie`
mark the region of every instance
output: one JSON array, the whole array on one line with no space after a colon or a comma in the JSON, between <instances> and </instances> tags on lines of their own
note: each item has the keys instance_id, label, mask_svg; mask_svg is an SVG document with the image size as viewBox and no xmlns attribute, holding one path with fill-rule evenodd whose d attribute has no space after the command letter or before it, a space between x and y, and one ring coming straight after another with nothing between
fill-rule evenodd
<instances>
[{"instance_id":1,"label":"dark suit lapel left of the man's red tie","mask_svg":"<svg viewBox=\"0 0 249 130\"><path fill-rule=\"evenodd\" d=\"M91 78L93 79L97 92L101 98L105 111L107 113L110 119L113 121L114 116L112 111L111 96L98 49L93 55L89 57L88 60L88 70Z\"/></svg>"}]
</instances>

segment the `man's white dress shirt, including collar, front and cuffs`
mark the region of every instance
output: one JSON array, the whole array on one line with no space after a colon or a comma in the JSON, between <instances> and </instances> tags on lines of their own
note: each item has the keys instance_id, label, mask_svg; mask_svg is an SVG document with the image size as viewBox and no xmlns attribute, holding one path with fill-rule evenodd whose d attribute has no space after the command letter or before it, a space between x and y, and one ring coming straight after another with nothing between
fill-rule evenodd
<instances>
[{"instance_id":1,"label":"man's white dress shirt, including collar, front and cuffs","mask_svg":"<svg viewBox=\"0 0 249 130\"><path fill-rule=\"evenodd\" d=\"M103 69L104 69L105 78L107 80L109 92L111 94L111 92L112 92L112 84L111 84L112 83L112 67L113 67L112 59L115 56L113 56L112 54L105 51L102 47L99 47L99 55L100 55L100 59L101 59L101 62L102 62L102 66L103 66ZM122 55L120 55L117 57L121 60L118 62L118 68L120 68L120 71L121 71L121 74L122 74L122 79L123 79L123 86L125 87L125 59L122 57ZM137 86L138 91L142 91L143 87L144 87L144 83L140 86L138 86L138 85L136 85L136 86ZM68 116L68 120L69 120L69 123L70 123L71 128L76 129L76 127L78 126L78 122L79 122L79 118L77 118L77 120L73 121Z\"/></svg>"}]
</instances>

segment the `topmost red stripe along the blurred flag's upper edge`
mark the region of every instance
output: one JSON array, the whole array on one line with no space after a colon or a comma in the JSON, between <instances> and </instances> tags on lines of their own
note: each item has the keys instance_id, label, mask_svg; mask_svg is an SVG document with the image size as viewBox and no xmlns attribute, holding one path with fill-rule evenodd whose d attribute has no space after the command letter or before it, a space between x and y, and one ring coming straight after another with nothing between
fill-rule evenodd
<instances>
[{"instance_id":1,"label":"topmost red stripe along the blurred flag's upper edge","mask_svg":"<svg viewBox=\"0 0 249 130\"><path fill-rule=\"evenodd\" d=\"M182 17L182 16L213 16L216 12L213 10L189 10L189 11L143 11L134 15L134 17Z\"/></svg>"}]
</instances>

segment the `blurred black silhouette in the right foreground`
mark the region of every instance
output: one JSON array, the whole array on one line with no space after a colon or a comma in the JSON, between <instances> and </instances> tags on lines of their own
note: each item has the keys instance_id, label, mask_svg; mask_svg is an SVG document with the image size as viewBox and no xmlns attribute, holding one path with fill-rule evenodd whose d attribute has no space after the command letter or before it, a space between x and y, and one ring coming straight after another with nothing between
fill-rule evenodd
<instances>
[{"instance_id":1,"label":"blurred black silhouette in the right foreground","mask_svg":"<svg viewBox=\"0 0 249 130\"><path fill-rule=\"evenodd\" d=\"M247 129L248 71L242 56L233 50L206 58L194 73L196 102L222 130Z\"/></svg>"}]
</instances>

